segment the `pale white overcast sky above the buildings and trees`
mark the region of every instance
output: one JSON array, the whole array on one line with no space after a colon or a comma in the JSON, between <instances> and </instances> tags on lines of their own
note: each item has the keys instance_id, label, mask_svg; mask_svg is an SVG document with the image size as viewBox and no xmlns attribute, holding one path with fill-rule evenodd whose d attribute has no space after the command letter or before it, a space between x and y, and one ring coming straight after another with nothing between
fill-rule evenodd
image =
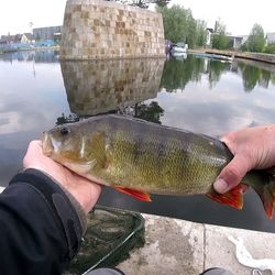
<instances>
[{"instance_id":1,"label":"pale white overcast sky above the buildings and trees","mask_svg":"<svg viewBox=\"0 0 275 275\"><path fill-rule=\"evenodd\" d=\"M66 0L3 0L0 4L0 34L30 32L33 28L61 25ZM190 8L196 19L204 19L209 28L220 18L233 35L249 34L254 23L265 32L275 32L274 0L173 0Z\"/></svg>"}]
</instances>

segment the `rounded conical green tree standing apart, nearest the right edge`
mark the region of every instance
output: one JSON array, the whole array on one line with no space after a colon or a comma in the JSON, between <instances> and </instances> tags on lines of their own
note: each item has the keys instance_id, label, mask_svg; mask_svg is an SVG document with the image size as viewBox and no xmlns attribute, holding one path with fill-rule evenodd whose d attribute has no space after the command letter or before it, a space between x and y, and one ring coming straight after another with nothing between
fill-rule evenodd
<instances>
[{"instance_id":1,"label":"rounded conical green tree standing apart, nearest the right edge","mask_svg":"<svg viewBox=\"0 0 275 275\"><path fill-rule=\"evenodd\" d=\"M264 51L264 30L260 24L254 24L245 44L249 52L262 53Z\"/></svg>"}]
</instances>

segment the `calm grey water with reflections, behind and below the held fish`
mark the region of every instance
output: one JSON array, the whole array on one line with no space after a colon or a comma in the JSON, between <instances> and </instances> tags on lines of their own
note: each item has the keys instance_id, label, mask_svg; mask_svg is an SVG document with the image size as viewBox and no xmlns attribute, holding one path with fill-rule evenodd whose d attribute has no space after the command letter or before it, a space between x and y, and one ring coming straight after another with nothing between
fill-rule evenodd
<instances>
[{"instance_id":1,"label":"calm grey water with reflections, behind and below the held fish","mask_svg":"<svg viewBox=\"0 0 275 275\"><path fill-rule=\"evenodd\" d=\"M21 168L45 129L103 112L212 136L275 122L275 66L187 59L65 62L56 53L0 56L0 185ZM152 204L105 189L100 204L191 221L275 232L250 190L242 211L204 196L153 196Z\"/></svg>"}]
</instances>

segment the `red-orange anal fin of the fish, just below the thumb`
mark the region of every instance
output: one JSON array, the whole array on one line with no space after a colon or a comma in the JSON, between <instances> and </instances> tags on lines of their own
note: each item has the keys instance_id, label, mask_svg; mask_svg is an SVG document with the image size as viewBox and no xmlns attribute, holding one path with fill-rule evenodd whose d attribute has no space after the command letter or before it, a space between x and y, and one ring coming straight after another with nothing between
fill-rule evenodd
<instances>
[{"instance_id":1,"label":"red-orange anal fin of the fish, just below the thumb","mask_svg":"<svg viewBox=\"0 0 275 275\"><path fill-rule=\"evenodd\" d=\"M245 189L244 186L240 184L226 194L219 194L212 189L206 196L222 205L228 205L235 209L242 209L244 189Z\"/></svg>"}]
</instances>

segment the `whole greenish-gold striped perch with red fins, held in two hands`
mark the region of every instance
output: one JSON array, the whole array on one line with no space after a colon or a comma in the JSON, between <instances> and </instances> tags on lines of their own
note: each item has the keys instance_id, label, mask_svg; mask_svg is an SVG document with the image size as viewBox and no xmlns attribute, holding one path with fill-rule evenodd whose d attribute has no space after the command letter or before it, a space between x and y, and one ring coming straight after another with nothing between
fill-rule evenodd
<instances>
[{"instance_id":1,"label":"whole greenish-gold striped perch with red fins, held in two hands","mask_svg":"<svg viewBox=\"0 0 275 275\"><path fill-rule=\"evenodd\" d=\"M212 183L233 155L219 140L127 118L99 116L56 127L43 135L43 152L75 173L150 201L147 193L204 194L241 209L243 187L221 195ZM273 217L275 178L252 170L242 183L260 195Z\"/></svg>"}]
</instances>

